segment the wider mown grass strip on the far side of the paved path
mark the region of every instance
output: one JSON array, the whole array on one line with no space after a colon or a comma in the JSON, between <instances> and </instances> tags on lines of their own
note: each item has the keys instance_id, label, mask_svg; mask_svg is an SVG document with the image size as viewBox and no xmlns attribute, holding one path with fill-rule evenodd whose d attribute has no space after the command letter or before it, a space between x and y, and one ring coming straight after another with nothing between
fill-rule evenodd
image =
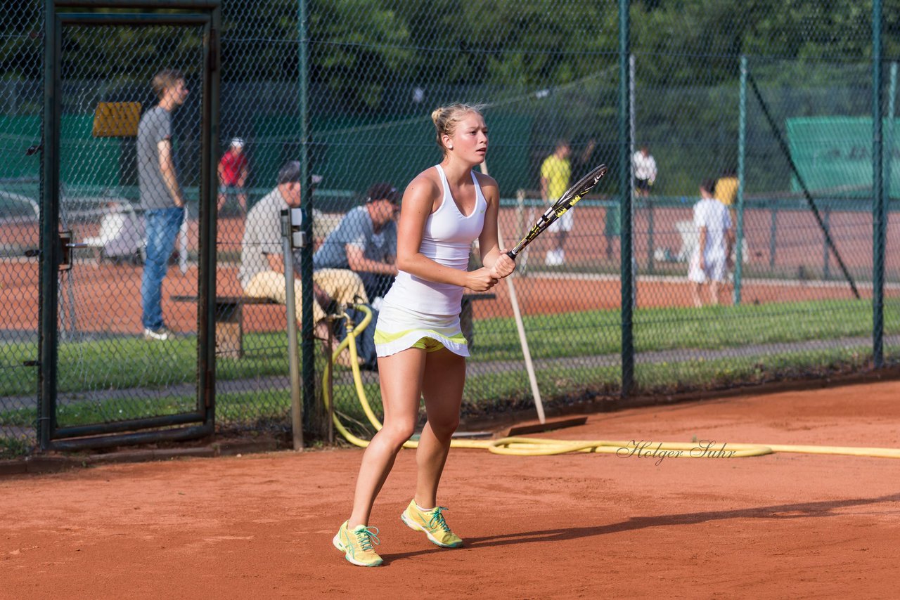
<instances>
[{"instance_id":1,"label":"wider mown grass strip on the far side of the paved path","mask_svg":"<svg viewBox=\"0 0 900 600\"><path fill-rule=\"evenodd\" d=\"M618 354L618 310L595 310L525 318L528 344L535 359ZM747 345L871 336L868 301L824 300L784 304L707 307L704 309L638 309L635 350L638 353L691 349L722 350ZM475 324L472 361L519 360L521 350L512 318L488 318ZM887 335L900 333L900 301L885 311ZM220 381L284 375L287 336L283 332L247 334L245 355L220 358ZM0 345L0 362L21 364L35 358L36 345ZM148 343L139 337L115 337L59 346L58 391L163 389L196 381L196 340L177 337ZM31 369L0 370L0 397L34 396Z\"/></svg>"}]
</instances>

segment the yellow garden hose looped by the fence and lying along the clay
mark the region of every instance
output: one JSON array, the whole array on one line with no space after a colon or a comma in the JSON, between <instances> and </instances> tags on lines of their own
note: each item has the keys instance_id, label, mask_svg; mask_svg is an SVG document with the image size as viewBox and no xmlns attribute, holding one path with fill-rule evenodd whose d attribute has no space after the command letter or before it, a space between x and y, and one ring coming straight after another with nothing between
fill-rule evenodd
<instances>
[{"instance_id":1,"label":"yellow garden hose looped by the fence and lying along the clay","mask_svg":"<svg viewBox=\"0 0 900 600\"><path fill-rule=\"evenodd\" d=\"M356 336L359 336L365 327L368 327L372 321L372 310L365 305L356 305L355 309L362 310L365 317L354 327L353 320L346 315L343 316L347 322L347 336L341 340L341 343L331 354L331 360L325 365L325 373L323 380L329 381L330 371L333 368L335 359L346 348L350 353L351 370L353 371L353 381L356 385L356 395L359 397L359 403L363 407L366 418L375 428L380 431L382 428L381 421L375 416L368 398L365 396L363 388L363 378L359 371L359 362L356 360ZM325 401L326 410L331 404L329 387L324 386L322 395ZM352 443L361 448L369 445L368 440L364 440L351 434L347 427L341 423L337 413L332 416L335 427L338 432L344 436L347 442ZM756 444L756 443L679 443L679 442L630 442L609 441L609 440L552 440L539 437L504 437L497 440L453 440L450 443L452 448L477 448L487 450L495 454L510 454L516 456L547 456L552 454L567 454L570 452L590 452L617 454L618 456L638 456L656 458L662 461L665 458L739 458L746 456L761 456L763 454L771 454L773 452L795 452L802 454L842 454L847 456L871 456L878 458L895 458L900 459L900 450L894 448L855 448L846 446L812 446L812 445L785 445L785 444ZM410 440L403 444L404 448L417 448L419 443Z\"/></svg>"}]
</instances>

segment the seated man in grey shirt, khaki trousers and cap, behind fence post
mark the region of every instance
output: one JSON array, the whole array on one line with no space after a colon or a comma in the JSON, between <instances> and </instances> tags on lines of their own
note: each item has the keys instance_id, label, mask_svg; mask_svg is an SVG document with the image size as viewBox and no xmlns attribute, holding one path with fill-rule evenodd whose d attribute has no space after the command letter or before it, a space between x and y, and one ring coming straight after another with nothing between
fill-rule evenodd
<instances>
[{"instance_id":1,"label":"seated man in grey shirt, khaki trousers and cap, behind fence post","mask_svg":"<svg viewBox=\"0 0 900 600\"><path fill-rule=\"evenodd\" d=\"M278 185L254 204L247 213L244 238L240 253L238 280L244 293L254 298L270 298L284 304L287 293L284 287L284 255L282 244L281 211L300 207L300 163L291 161L278 173ZM297 322L302 319L300 251L293 255L293 290ZM316 336L322 339L329 334L326 311L334 302L340 304L368 303L363 282L356 273L338 269L316 269L312 273L312 305Z\"/></svg>"}]
</instances>

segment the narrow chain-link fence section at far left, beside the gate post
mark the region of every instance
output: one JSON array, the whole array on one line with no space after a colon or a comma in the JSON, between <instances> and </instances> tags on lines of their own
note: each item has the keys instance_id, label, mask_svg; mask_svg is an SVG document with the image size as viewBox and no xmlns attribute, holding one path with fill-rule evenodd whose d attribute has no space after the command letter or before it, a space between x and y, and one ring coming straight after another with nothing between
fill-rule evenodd
<instances>
[{"instance_id":1,"label":"narrow chain-link fence section at far left, beside the gate post","mask_svg":"<svg viewBox=\"0 0 900 600\"><path fill-rule=\"evenodd\" d=\"M38 247L40 159L40 4L0 18L0 456L27 452L35 439L38 381L28 361L38 358L38 264L24 255ZM32 363L33 364L33 363Z\"/></svg>"}]
</instances>

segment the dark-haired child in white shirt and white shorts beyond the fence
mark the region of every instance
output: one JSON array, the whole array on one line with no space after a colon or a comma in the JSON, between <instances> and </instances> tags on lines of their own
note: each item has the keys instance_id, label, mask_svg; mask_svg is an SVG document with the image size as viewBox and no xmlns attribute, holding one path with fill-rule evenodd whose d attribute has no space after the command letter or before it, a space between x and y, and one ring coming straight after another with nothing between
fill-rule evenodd
<instances>
[{"instance_id":1,"label":"dark-haired child in white shirt and white shorts beyond the fence","mask_svg":"<svg viewBox=\"0 0 900 600\"><path fill-rule=\"evenodd\" d=\"M694 205L694 227L698 231L698 244L690 259L688 279L694 306L703 306L700 286L709 284L709 302L719 303L719 288L731 268L731 252L734 246L731 215L725 204L716 200L713 190L716 182L707 179L700 184L700 201Z\"/></svg>"}]
</instances>

